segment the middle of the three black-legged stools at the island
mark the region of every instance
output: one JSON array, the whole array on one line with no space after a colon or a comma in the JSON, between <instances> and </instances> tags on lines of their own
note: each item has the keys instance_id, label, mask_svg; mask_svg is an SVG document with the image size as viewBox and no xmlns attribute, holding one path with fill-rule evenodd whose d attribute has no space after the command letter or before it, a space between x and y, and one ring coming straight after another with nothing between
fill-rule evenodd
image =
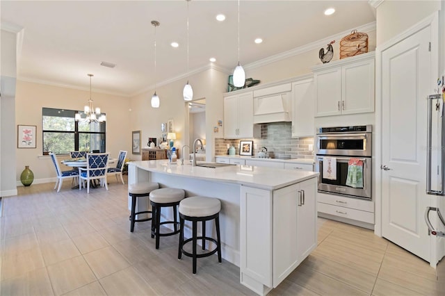
<instances>
[{"instance_id":1,"label":"middle of the three black-legged stools at the island","mask_svg":"<svg viewBox=\"0 0 445 296\"><path fill-rule=\"evenodd\" d=\"M178 188L160 188L150 192L150 204L152 205L152 238L156 237L156 249L159 249L159 237L172 236L179 233L177 225L177 206L186 196L186 192ZM161 208L173 207L173 221L161 222ZM173 224L173 231L161 233L159 230L163 224Z\"/></svg>"}]
</instances>

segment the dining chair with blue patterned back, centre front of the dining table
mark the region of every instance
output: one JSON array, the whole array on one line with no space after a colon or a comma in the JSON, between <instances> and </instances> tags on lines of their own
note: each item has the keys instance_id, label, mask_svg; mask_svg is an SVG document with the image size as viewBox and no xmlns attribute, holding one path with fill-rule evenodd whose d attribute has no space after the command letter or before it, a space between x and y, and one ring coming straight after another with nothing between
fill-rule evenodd
<instances>
[{"instance_id":1,"label":"dining chair with blue patterned back, centre front of the dining table","mask_svg":"<svg viewBox=\"0 0 445 296\"><path fill-rule=\"evenodd\" d=\"M79 167L79 190L82 187L87 188L86 192L90 193L90 181L95 180L99 180L100 186L105 186L108 190L108 184L106 183L108 156L109 153L86 154L86 167Z\"/></svg>"}]
</instances>

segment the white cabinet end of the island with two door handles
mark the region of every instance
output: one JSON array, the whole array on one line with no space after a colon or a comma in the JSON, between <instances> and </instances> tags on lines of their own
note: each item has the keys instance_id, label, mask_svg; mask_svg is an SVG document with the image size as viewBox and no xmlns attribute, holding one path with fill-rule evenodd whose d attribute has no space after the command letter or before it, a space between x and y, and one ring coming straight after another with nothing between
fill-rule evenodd
<instances>
[{"instance_id":1,"label":"white cabinet end of the island with two door handles","mask_svg":"<svg viewBox=\"0 0 445 296\"><path fill-rule=\"evenodd\" d=\"M316 248L317 178L278 190L241 186L241 283L276 288ZM255 258L263 258L258 261Z\"/></svg>"}]
</instances>

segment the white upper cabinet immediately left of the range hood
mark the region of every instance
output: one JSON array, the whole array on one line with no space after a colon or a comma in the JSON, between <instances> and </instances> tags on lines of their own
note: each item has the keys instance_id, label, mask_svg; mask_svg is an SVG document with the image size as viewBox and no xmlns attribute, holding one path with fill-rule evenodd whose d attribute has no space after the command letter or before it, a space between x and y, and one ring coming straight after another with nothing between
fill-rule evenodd
<instances>
[{"instance_id":1,"label":"white upper cabinet immediately left of the range hood","mask_svg":"<svg viewBox=\"0 0 445 296\"><path fill-rule=\"evenodd\" d=\"M253 138L253 92L224 98L224 138Z\"/></svg>"}]
</instances>

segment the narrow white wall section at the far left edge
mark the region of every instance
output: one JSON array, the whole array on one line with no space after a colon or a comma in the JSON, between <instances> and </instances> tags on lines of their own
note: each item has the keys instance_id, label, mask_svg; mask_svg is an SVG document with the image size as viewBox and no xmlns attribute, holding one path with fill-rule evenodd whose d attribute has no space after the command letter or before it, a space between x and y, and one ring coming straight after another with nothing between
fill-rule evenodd
<instances>
[{"instance_id":1,"label":"narrow white wall section at the far left edge","mask_svg":"<svg viewBox=\"0 0 445 296\"><path fill-rule=\"evenodd\" d=\"M17 195L15 186L16 34L1 30L0 197Z\"/></svg>"}]
</instances>

